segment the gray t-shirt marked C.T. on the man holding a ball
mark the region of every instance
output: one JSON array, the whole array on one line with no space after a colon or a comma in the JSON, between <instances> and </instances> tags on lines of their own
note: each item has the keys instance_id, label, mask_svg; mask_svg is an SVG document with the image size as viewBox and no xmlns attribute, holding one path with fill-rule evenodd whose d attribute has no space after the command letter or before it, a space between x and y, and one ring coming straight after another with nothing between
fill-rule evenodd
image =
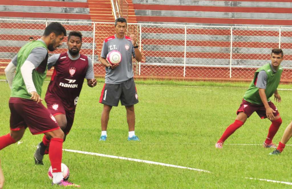
<instances>
[{"instance_id":1,"label":"gray t-shirt marked C.T. on the man holding a ball","mask_svg":"<svg viewBox=\"0 0 292 189\"><path fill-rule=\"evenodd\" d=\"M122 55L122 61L115 69L105 68L105 83L119 84L134 77L132 55L135 58L135 49L133 48L130 37L125 36L120 39L116 35L106 38L103 41L101 57L106 58L107 53L117 50Z\"/></svg>"}]
</instances>

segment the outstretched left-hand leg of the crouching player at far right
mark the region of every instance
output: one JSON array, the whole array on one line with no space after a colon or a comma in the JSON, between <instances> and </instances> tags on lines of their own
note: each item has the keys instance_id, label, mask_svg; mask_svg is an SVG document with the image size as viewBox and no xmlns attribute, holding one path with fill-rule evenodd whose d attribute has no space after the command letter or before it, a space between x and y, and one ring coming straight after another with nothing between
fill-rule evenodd
<instances>
[{"instance_id":1,"label":"outstretched left-hand leg of the crouching player at far right","mask_svg":"<svg viewBox=\"0 0 292 189\"><path fill-rule=\"evenodd\" d=\"M226 130L222 134L221 138L215 144L215 147L222 148L222 145L225 142L225 140L230 135L232 135L239 127L241 127L246 122L246 119L255 110L256 110L256 108L252 104L248 103L245 100L242 100L242 103L240 104L240 106L237 110L237 117L235 118L235 121L226 128Z\"/></svg>"}]
</instances>

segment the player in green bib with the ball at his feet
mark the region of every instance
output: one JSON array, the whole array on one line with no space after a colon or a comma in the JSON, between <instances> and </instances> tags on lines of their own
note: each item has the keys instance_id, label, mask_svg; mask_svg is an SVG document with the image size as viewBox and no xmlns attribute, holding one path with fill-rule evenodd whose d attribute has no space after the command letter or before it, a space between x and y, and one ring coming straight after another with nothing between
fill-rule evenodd
<instances>
[{"instance_id":1,"label":"player in green bib with the ball at his feet","mask_svg":"<svg viewBox=\"0 0 292 189\"><path fill-rule=\"evenodd\" d=\"M19 141L27 127L32 134L44 133L51 139L49 157L53 168L52 184L79 187L63 179L61 162L64 132L41 103L43 99L40 97L47 74L48 50L54 51L62 45L65 35L66 29L60 23L52 22L40 39L24 45L5 69L11 87L10 133L0 137L0 150Z\"/></svg>"}]
</instances>

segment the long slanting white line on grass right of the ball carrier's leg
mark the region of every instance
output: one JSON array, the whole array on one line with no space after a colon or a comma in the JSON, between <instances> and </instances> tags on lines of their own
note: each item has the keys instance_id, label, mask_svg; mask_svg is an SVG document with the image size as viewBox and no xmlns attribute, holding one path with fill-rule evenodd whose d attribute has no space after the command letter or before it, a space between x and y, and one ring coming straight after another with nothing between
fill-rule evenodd
<instances>
[{"instance_id":1,"label":"long slanting white line on grass right of the ball carrier's leg","mask_svg":"<svg viewBox=\"0 0 292 189\"><path fill-rule=\"evenodd\" d=\"M133 159L133 158L128 158L128 157L120 157L120 156L115 156L115 155L106 155L106 154L100 154L100 153L93 153L93 152L84 152L84 151L79 151L79 150L68 150L68 149L63 149L64 151L67 152L73 152L73 153L81 153L81 154L88 154L88 155L97 155L101 157L110 157L110 158L115 158L115 159L120 159L120 160L128 160L128 161L135 161L135 162L142 162L142 163L148 163L148 164L155 164L155 165L162 165L166 167L175 167L175 168L180 168L180 169L190 169L190 170L195 170L195 171L201 171L201 172L206 172L206 173L211 173L210 171L203 170L203 169L195 169L195 168L190 168L190 167L182 167L178 165L172 165L172 164L166 164L166 163L159 163L159 162L153 162L153 161L148 161L148 160L139 160L139 159Z\"/></svg>"}]
</instances>

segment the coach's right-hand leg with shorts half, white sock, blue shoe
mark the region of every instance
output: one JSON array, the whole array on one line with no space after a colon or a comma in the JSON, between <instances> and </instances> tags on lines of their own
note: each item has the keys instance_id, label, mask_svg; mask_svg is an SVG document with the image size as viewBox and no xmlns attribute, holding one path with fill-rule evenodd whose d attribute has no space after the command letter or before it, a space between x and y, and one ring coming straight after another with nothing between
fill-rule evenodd
<instances>
[{"instance_id":1,"label":"coach's right-hand leg with shorts half, white sock, blue shoe","mask_svg":"<svg viewBox=\"0 0 292 189\"><path fill-rule=\"evenodd\" d=\"M134 79L131 78L121 84L121 104L126 107L127 122L129 127L128 141L140 141L138 136L135 135L135 109L134 104L137 104L138 94L135 86Z\"/></svg>"}]
</instances>

